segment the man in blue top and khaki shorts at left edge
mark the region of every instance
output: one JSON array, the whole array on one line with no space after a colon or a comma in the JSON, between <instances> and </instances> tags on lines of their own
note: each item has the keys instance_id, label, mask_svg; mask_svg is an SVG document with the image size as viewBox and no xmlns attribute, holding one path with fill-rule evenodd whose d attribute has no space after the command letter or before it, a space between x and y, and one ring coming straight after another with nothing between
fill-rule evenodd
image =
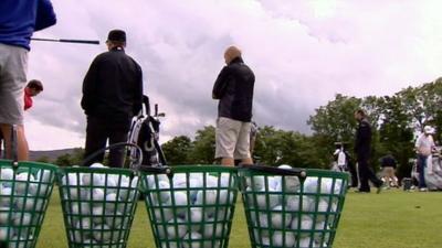
<instances>
[{"instance_id":1,"label":"man in blue top and khaki shorts at left edge","mask_svg":"<svg viewBox=\"0 0 442 248\"><path fill-rule=\"evenodd\" d=\"M56 23L50 0L0 1L0 130L11 153L11 127L17 126L18 160L29 159L23 129L23 93L28 52L34 31Z\"/></svg>"}]
</instances>

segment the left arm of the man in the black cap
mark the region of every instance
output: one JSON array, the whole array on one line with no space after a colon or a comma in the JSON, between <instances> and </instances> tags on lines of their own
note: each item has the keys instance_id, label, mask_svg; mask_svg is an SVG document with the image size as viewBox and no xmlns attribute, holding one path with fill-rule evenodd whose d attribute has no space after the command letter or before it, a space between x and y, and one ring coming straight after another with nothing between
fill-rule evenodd
<instances>
[{"instance_id":1,"label":"left arm of the man in the black cap","mask_svg":"<svg viewBox=\"0 0 442 248\"><path fill-rule=\"evenodd\" d=\"M86 73L86 76L83 80L83 98L82 98L82 108L86 112L90 114L91 108L94 106L94 99L96 95L96 85L98 78L98 63L97 58L95 58L90 69Z\"/></svg>"}]
</instances>

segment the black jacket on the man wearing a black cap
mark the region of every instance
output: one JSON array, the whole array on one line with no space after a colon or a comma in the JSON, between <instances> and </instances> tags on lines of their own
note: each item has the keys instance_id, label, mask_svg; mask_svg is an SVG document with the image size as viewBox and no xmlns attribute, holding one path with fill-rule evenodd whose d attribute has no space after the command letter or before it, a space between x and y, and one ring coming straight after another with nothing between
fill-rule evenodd
<instances>
[{"instance_id":1,"label":"black jacket on the man wearing a black cap","mask_svg":"<svg viewBox=\"0 0 442 248\"><path fill-rule=\"evenodd\" d=\"M123 48L99 54L83 82L82 108L87 116L125 120L143 103L141 67Z\"/></svg>"}]
</instances>

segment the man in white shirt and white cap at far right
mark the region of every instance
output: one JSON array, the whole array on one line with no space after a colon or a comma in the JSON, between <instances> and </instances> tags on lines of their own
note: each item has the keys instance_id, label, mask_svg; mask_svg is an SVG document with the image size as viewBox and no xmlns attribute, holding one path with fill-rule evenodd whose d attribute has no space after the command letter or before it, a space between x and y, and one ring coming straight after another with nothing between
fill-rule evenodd
<instances>
[{"instance_id":1,"label":"man in white shirt and white cap at far right","mask_svg":"<svg viewBox=\"0 0 442 248\"><path fill-rule=\"evenodd\" d=\"M434 129L430 126L423 128L423 133L415 140L415 152L418 154L418 173L419 173L419 191L428 191L425 184L425 168L427 159L431 155L431 152L435 149L433 137Z\"/></svg>"}]
</instances>

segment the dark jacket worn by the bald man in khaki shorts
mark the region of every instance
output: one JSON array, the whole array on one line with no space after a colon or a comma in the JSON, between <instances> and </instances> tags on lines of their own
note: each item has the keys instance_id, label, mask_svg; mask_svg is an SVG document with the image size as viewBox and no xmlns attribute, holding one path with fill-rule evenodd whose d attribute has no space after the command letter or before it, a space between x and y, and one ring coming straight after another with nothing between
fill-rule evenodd
<instances>
[{"instance_id":1,"label":"dark jacket worn by the bald man in khaki shorts","mask_svg":"<svg viewBox=\"0 0 442 248\"><path fill-rule=\"evenodd\" d=\"M213 85L213 99L219 99L218 117L250 122L252 119L255 76L241 57L224 66Z\"/></svg>"}]
</instances>

